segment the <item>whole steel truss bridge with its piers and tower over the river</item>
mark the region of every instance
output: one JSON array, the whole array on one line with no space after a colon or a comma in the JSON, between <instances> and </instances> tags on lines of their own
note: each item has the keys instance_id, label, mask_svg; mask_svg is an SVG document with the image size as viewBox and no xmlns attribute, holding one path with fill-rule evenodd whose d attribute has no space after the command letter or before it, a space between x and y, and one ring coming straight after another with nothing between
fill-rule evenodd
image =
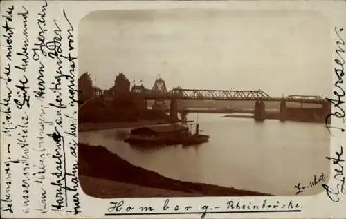
<instances>
[{"instance_id":1,"label":"whole steel truss bridge with its piers and tower over the river","mask_svg":"<svg viewBox=\"0 0 346 219\"><path fill-rule=\"evenodd\" d=\"M113 101L116 98L116 93L113 89L111 90L94 90L93 97L88 99L86 102L92 99L103 99L104 101ZM124 91L128 93L129 91ZM118 95L121 97L122 95ZM324 98L316 95L289 95L286 97L271 97L267 93L262 90L258 91L235 91L235 90L206 90L206 89L183 89L181 87L173 88L171 91L167 91L165 86L165 81L163 79L156 79L154 86L152 89L147 89L142 85L134 85L131 88L132 97L140 97L138 98L139 102L142 100L147 104L147 100L154 100L155 102L161 102L164 100L170 101L170 116L173 118L178 117L178 100L222 100L222 101L253 101L255 102L254 108L241 108L239 109L242 113L253 113L254 119L256 121L263 121L266 119L266 102L280 102L280 107L278 109L279 119L284 121L287 117L291 116L290 109L286 106L286 102L297 102L301 105L301 111L303 112L303 104L318 104L322 105L321 108L314 109L314 113L318 113L318 115L325 116L326 113L330 113L331 104ZM125 97L125 96L124 96ZM125 97L127 98L127 97ZM135 98L136 99L136 98ZM79 106L78 110L82 108L85 104ZM158 104L160 105L160 104ZM309 106L310 107L310 106ZM308 108L309 108L308 107ZM208 109L208 110L197 110L197 109L188 109L186 108L183 111L179 111L181 115L184 113L199 111L200 113L236 113L235 109ZM298 112L294 111L293 113L297 114ZM299 114L299 113L298 113ZM297 114L297 115L298 115ZM302 113L301 115L304 116ZM317 114L313 114L317 115Z\"/></svg>"}]
</instances>

